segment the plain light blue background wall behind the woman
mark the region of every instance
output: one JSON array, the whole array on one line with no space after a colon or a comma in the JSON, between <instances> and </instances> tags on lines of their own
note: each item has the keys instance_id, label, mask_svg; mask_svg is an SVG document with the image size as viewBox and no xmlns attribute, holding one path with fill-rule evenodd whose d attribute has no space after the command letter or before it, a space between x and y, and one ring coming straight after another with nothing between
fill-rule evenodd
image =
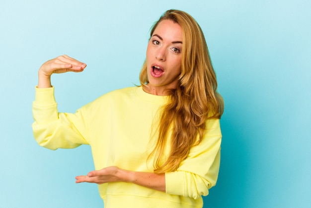
<instances>
[{"instance_id":1,"label":"plain light blue background wall behind the woman","mask_svg":"<svg viewBox=\"0 0 311 208\"><path fill-rule=\"evenodd\" d=\"M201 25L226 109L222 161L205 208L311 206L311 1L0 0L0 207L102 207L89 146L51 151L32 136L42 63L88 66L54 75L60 111L139 84L151 25L170 8Z\"/></svg>"}]
</instances>

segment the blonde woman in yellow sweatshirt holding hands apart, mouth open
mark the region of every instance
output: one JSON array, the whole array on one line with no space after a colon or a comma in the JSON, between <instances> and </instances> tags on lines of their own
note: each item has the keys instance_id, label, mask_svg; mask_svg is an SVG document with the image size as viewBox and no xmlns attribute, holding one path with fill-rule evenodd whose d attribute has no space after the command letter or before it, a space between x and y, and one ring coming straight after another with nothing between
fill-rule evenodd
<instances>
[{"instance_id":1,"label":"blonde woman in yellow sweatshirt holding hands apart, mouth open","mask_svg":"<svg viewBox=\"0 0 311 208\"><path fill-rule=\"evenodd\" d=\"M105 208L200 208L216 184L223 100L206 41L186 12L166 11L152 27L141 86L116 90L60 113L50 77L86 65L60 56L39 69L33 103L37 142L50 149L91 146Z\"/></svg>"}]
</instances>

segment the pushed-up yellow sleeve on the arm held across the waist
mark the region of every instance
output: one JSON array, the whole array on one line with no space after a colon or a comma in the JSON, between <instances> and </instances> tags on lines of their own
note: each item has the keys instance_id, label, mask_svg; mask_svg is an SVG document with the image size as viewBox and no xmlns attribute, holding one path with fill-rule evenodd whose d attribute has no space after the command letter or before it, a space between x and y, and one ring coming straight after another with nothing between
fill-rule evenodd
<instances>
[{"instance_id":1,"label":"pushed-up yellow sleeve on the arm held across the waist","mask_svg":"<svg viewBox=\"0 0 311 208\"><path fill-rule=\"evenodd\" d=\"M221 130L219 119L207 121L205 136L193 146L174 172L165 173L166 193L198 199L215 186L220 167Z\"/></svg>"}]
</instances>

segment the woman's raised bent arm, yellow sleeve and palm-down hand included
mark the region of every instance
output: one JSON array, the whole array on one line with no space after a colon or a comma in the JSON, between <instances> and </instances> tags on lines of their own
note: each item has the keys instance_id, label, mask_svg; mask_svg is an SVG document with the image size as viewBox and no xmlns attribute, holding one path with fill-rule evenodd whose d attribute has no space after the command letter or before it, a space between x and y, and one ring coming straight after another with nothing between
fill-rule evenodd
<instances>
[{"instance_id":1,"label":"woman's raised bent arm, yellow sleeve and palm-down hand included","mask_svg":"<svg viewBox=\"0 0 311 208\"><path fill-rule=\"evenodd\" d=\"M67 55L51 59L40 67L35 101L32 104L33 135L40 146L55 150L88 144L83 111L79 109L76 113L59 113L54 88L51 86L53 73L81 72L85 67L85 64Z\"/></svg>"}]
</instances>

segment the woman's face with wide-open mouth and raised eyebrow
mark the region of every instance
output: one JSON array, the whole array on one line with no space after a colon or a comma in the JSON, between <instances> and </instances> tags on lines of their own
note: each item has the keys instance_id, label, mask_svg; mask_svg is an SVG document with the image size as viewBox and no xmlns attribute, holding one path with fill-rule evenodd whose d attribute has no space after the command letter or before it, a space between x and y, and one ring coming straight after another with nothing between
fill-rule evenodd
<instances>
[{"instance_id":1,"label":"woman's face with wide-open mouth and raised eyebrow","mask_svg":"<svg viewBox=\"0 0 311 208\"><path fill-rule=\"evenodd\" d=\"M181 72L181 50L182 28L172 20L162 20L147 47L147 92L164 95L165 89L177 87Z\"/></svg>"}]
</instances>

